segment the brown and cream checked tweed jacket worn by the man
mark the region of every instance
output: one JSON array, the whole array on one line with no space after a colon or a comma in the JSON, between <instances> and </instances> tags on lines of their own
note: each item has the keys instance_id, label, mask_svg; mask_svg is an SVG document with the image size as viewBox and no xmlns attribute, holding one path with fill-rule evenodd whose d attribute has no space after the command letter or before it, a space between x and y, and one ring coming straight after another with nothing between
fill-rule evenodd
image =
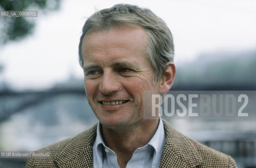
<instances>
[{"instance_id":1,"label":"brown and cream checked tweed jacket worn by the man","mask_svg":"<svg viewBox=\"0 0 256 168\"><path fill-rule=\"evenodd\" d=\"M163 120L166 140L159 167L163 168L209 168L236 167L231 156L217 152L201 143L185 137L173 129ZM74 138L70 138L37 152L50 152L49 157L29 158L27 168L30 167L93 167L92 151L96 138L97 124Z\"/></svg>"}]
</instances>

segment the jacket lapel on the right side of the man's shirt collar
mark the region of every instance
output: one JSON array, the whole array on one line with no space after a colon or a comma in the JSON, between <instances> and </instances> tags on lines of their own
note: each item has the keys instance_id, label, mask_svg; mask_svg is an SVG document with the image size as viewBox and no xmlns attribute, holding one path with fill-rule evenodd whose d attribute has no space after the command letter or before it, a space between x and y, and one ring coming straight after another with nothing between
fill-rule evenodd
<instances>
[{"instance_id":1,"label":"jacket lapel on the right side of the man's shirt collar","mask_svg":"<svg viewBox=\"0 0 256 168\"><path fill-rule=\"evenodd\" d=\"M163 119L166 139L159 167L197 167L202 162L192 140Z\"/></svg>"}]
</instances>

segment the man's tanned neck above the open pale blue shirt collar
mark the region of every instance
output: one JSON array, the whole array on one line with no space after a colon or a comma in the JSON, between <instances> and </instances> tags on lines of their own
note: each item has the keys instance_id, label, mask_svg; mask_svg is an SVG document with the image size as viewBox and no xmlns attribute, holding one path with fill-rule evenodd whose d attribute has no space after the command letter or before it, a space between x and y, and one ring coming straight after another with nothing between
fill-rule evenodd
<instances>
[{"instance_id":1,"label":"man's tanned neck above the open pale blue shirt collar","mask_svg":"<svg viewBox=\"0 0 256 168\"><path fill-rule=\"evenodd\" d=\"M129 128L106 128L102 125L102 138L105 144L115 151L120 167L126 167L134 151L145 146L154 136L159 119L144 120Z\"/></svg>"}]
</instances>

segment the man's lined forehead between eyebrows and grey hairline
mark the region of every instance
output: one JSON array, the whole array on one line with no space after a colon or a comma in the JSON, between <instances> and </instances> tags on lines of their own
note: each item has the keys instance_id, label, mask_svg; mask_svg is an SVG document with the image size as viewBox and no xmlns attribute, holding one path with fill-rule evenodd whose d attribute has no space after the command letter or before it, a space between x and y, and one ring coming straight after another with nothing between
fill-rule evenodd
<instances>
[{"instance_id":1,"label":"man's lined forehead between eyebrows and grey hairline","mask_svg":"<svg viewBox=\"0 0 256 168\"><path fill-rule=\"evenodd\" d=\"M144 28L123 23L112 27L109 30L95 30L90 29L83 38L82 42L82 56L85 58L94 50L115 50L118 54L126 53L132 54L135 52L145 52L148 45L148 35ZM111 53L111 52L110 52Z\"/></svg>"}]
</instances>

